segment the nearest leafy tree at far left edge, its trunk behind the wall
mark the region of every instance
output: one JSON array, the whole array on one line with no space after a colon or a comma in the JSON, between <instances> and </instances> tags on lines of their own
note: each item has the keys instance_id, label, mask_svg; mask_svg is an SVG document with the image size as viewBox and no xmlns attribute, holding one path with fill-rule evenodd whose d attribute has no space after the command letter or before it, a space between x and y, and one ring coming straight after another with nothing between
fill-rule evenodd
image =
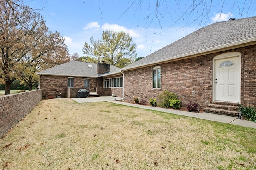
<instances>
[{"instance_id":1,"label":"nearest leafy tree at far left edge, its trunk behind the wall","mask_svg":"<svg viewBox=\"0 0 256 170\"><path fill-rule=\"evenodd\" d=\"M11 83L21 74L18 64L36 45L31 35L44 20L30 9L8 5L0 1L0 78L5 82L5 94L10 94Z\"/></svg>"}]
</instances>

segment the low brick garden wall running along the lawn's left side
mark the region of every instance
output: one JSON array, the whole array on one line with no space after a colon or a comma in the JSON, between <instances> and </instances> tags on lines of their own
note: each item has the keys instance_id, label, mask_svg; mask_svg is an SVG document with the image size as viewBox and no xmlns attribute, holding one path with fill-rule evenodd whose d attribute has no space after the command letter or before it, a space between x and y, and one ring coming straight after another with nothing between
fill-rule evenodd
<instances>
[{"instance_id":1,"label":"low brick garden wall running along the lawn's left side","mask_svg":"<svg viewBox=\"0 0 256 170\"><path fill-rule=\"evenodd\" d=\"M0 137L18 123L42 99L42 90L0 97Z\"/></svg>"}]
</instances>

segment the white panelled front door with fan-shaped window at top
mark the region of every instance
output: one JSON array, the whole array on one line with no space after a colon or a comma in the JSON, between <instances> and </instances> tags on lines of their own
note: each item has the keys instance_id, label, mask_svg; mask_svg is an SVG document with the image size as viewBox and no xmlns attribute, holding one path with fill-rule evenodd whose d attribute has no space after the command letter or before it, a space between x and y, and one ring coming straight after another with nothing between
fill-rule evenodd
<instances>
[{"instance_id":1,"label":"white panelled front door with fan-shaped window at top","mask_svg":"<svg viewBox=\"0 0 256 170\"><path fill-rule=\"evenodd\" d=\"M214 99L240 103L240 57L214 59Z\"/></svg>"}]
</instances>

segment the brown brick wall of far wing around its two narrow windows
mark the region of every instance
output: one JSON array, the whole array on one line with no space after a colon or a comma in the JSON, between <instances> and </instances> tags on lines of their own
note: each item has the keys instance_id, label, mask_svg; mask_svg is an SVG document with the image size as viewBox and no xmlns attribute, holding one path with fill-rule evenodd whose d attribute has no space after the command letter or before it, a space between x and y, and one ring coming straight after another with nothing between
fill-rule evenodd
<instances>
[{"instance_id":1,"label":"brown brick wall of far wing around its two narrow windows","mask_svg":"<svg viewBox=\"0 0 256 170\"><path fill-rule=\"evenodd\" d=\"M62 98L67 97L68 76L40 76L40 89L42 89L42 98L48 98L48 95L57 95L61 93ZM90 92L96 92L98 84L97 78L90 78ZM74 77L74 88L84 89L84 77ZM74 90L75 92L76 90ZM73 91L71 91L73 92ZM73 96L73 94L70 94ZM77 95L75 92L74 95Z\"/></svg>"}]
</instances>

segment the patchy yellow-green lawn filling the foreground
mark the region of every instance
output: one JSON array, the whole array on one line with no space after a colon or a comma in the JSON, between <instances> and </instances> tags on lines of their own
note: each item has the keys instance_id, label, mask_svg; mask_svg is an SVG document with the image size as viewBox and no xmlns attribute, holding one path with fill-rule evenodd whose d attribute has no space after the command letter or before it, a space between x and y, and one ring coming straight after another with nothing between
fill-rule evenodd
<instances>
[{"instance_id":1,"label":"patchy yellow-green lawn filling the foreground","mask_svg":"<svg viewBox=\"0 0 256 170\"><path fill-rule=\"evenodd\" d=\"M0 169L256 169L255 143L252 128L50 99L0 139Z\"/></svg>"}]
</instances>

